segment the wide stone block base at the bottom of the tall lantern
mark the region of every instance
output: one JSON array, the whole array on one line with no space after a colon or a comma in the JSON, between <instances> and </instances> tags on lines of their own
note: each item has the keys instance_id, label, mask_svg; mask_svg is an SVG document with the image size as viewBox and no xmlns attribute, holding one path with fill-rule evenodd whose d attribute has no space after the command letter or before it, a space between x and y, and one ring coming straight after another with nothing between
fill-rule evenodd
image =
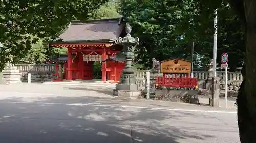
<instances>
[{"instance_id":1,"label":"wide stone block base at the bottom of the tall lantern","mask_svg":"<svg viewBox=\"0 0 256 143\"><path fill-rule=\"evenodd\" d=\"M138 99L141 97L141 92L137 84L117 84L113 90L113 95L118 97Z\"/></svg>"}]
</instances>

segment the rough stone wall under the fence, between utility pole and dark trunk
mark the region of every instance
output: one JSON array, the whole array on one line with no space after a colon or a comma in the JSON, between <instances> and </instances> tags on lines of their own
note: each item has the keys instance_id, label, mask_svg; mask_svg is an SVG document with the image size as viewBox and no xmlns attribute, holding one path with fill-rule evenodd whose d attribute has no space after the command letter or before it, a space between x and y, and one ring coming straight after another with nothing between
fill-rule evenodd
<instances>
[{"instance_id":1,"label":"rough stone wall under the fence, between utility pole and dark trunk","mask_svg":"<svg viewBox=\"0 0 256 143\"><path fill-rule=\"evenodd\" d=\"M229 80L227 81L227 97L237 97L238 90L242 81ZM220 81L220 96L225 96L225 81Z\"/></svg>"}]
</instances>

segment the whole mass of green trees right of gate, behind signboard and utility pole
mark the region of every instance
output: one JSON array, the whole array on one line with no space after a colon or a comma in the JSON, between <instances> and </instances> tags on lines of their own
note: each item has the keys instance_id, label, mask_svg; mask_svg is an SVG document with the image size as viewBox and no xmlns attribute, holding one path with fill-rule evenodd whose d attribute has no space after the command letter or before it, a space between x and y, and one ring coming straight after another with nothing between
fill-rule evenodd
<instances>
[{"instance_id":1,"label":"whole mass of green trees right of gate, behind signboard and utility pole","mask_svg":"<svg viewBox=\"0 0 256 143\"><path fill-rule=\"evenodd\" d=\"M218 1L217 1L218 2ZM121 0L120 13L133 26L133 33L141 39L138 59L148 66L151 57L191 58L194 41L196 65L206 66L212 58L214 14L204 16L197 1L136 1ZM202 7L203 8L203 7ZM218 59L223 52L230 56L232 69L242 66L244 38L241 24L230 6L222 4L218 18ZM220 64L220 60L217 61Z\"/></svg>"}]
</instances>

